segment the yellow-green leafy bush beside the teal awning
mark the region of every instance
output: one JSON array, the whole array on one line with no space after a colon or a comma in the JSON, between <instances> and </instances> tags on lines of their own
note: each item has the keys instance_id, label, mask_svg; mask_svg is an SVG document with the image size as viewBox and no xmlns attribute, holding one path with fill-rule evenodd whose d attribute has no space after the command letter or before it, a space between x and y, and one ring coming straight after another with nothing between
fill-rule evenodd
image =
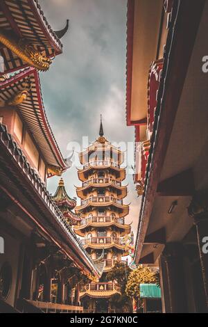
<instances>
[{"instance_id":1,"label":"yellow-green leafy bush beside the teal awning","mask_svg":"<svg viewBox=\"0 0 208 327\"><path fill-rule=\"evenodd\" d=\"M130 296L130 298L135 298L137 300L137 298L139 298L139 285L143 283L156 284L155 273L148 267L139 266L130 273L125 287L125 293Z\"/></svg>"}]
</instances>

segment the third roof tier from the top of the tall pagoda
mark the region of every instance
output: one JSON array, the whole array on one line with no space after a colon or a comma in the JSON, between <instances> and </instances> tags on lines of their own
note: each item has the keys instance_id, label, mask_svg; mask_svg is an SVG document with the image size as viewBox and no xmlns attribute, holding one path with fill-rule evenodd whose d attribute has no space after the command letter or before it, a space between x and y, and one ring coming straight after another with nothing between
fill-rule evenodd
<instances>
[{"instance_id":1,"label":"third roof tier from the top of the tall pagoda","mask_svg":"<svg viewBox=\"0 0 208 327\"><path fill-rule=\"evenodd\" d=\"M92 187L93 188L97 188L97 187L101 188L101 187L107 187L107 186L115 188L118 191L118 193L117 193L118 198L123 199L123 198L125 198L125 196L127 196L127 186L125 186L125 185L119 186L118 184L115 184L114 182L90 183L90 184L88 184L86 186L76 187L76 193L77 193L79 198L84 200L86 198L87 191L89 191L89 189L92 189Z\"/></svg>"}]
</instances>

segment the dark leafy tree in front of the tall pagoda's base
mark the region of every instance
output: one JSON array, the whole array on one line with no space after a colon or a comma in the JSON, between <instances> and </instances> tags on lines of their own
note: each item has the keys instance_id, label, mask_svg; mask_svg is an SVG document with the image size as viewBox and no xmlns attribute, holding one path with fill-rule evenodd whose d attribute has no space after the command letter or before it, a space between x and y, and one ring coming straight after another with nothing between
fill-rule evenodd
<instances>
[{"instance_id":1,"label":"dark leafy tree in front of the tall pagoda's base","mask_svg":"<svg viewBox=\"0 0 208 327\"><path fill-rule=\"evenodd\" d=\"M112 268L112 271L107 273L107 280L109 281L116 281L117 284L120 287L120 293L121 294L114 294L110 298L110 302L113 303L114 307L121 312L131 312L132 311L132 303L129 296L125 294L125 287L128 282L128 277L130 275L130 268L128 266L125 266L125 264L122 264L120 262L117 262L114 267ZM122 308L122 309L121 309Z\"/></svg>"}]
</instances>

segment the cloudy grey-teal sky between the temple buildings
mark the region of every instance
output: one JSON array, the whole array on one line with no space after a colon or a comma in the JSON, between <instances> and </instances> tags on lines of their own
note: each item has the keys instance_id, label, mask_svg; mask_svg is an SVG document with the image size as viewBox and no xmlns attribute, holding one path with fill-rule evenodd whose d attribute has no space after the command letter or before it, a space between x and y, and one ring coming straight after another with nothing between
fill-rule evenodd
<instances>
[{"instance_id":1,"label":"cloudy grey-teal sky between the temple buildings","mask_svg":"<svg viewBox=\"0 0 208 327\"><path fill-rule=\"evenodd\" d=\"M132 142L133 127L125 124L126 0L40 0L53 30L62 29L67 18L70 29L49 72L41 74L46 113L64 157L83 136L92 142L98 137L100 114L105 136L112 142ZM128 198L126 221L136 232L139 200L130 166L133 147L128 152ZM63 175L66 189L76 196L80 185L76 166ZM49 180L55 192L59 178Z\"/></svg>"}]
</instances>

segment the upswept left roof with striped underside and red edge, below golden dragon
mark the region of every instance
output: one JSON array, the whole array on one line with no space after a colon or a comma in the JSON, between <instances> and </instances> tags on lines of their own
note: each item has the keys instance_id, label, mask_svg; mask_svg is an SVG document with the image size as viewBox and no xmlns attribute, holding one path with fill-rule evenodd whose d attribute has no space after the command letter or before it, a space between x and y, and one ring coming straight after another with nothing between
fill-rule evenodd
<instances>
[{"instance_id":1,"label":"upswept left roof with striped underside and red edge, below golden dragon","mask_svg":"<svg viewBox=\"0 0 208 327\"><path fill-rule=\"evenodd\" d=\"M24 92L26 83L29 86L29 89L26 90L27 97L15 107L28 129L30 129L46 163L49 166L55 167L55 170L57 170L57 174L52 172L50 175L59 175L64 172L64 170L67 170L69 165L67 159L62 157L46 117L40 87L40 77L35 68L27 68L0 83L0 106L8 106L8 103L14 99L16 95Z\"/></svg>"}]
</instances>

